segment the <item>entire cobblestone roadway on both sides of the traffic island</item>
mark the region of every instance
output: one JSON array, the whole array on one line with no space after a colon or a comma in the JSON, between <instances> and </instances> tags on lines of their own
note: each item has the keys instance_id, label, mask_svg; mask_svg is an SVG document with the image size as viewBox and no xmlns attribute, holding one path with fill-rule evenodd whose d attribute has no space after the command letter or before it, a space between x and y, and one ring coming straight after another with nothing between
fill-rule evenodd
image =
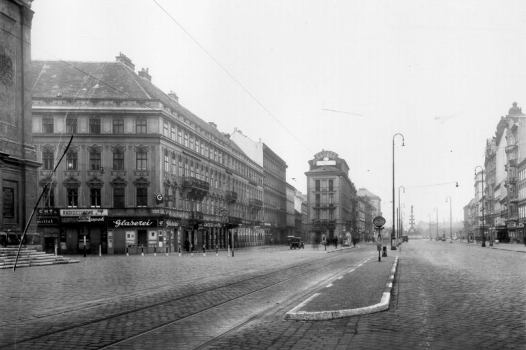
<instances>
[{"instance_id":1,"label":"entire cobblestone roadway on both sides of the traffic island","mask_svg":"<svg viewBox=\"0 0 526 350\"><path fill-rule=\"evenodd\" d=\"M36 336L38 332L85 322L86 325L71 336L49 342L52 345L47 349L101 349L100 344L126 338L127 332L134 329L146 332L149 327L156 327L158 318L170 326L110 348L525 348L526 253L481 248L458 241L450 244L411 240L403 244L401 251L390 251L389 258L379 263L371 259L376 258L375 245L335 250L331 247L326 253L310 247L301 251L265 247L240 249L235 258L228 258L225 251L220 251L218 257L215 253L206 257L197 253L193 257L103 256L86 258L80 264L21 268L16 273L0 271L5 282L0 292L9 300L1 305L0 339L5 345L15 339ZM330 260L325 263L334 265L328 271L353 266L355 271L351 276L373 288L375 284L367 282L368 276L361 275L367 273L368 268L360 268L358 262L368 259L367 264L389 267L395 255L399 257L399 264L390 308L384 312L329 321L286 320L286 312L312 294L307 290L301 292L301 288L308 288L309 284L299 281L301 283L295 282L296 290L278 284L273 292L255 294L236 305L220 303L211 314L197 313L197 317L187 317L182 323L171 325L172 320L184 316L182 312L199 312L199 308L217 299L215 288L229 288L230 284L251 276L265 278L284 266L321 264L327 258ZM327 275L324 270L315 275L311 273L310 285L314 287L316 281L323 282L324 275ZM257 284L259 282L250 282L243 288L250 289ZM231 295L242 292L225 290ZM166 300L177 303L179 297L194 293L201 293L195 302L162 306ZM326 302L331 304L329 300ZM97 328L90 326L92 318L142 307L148 308L141 319L129 314L123 323L108 318ZM3 347L2 343L1 349L45 348L29 343Z\"/></svg>"}]
</instances>

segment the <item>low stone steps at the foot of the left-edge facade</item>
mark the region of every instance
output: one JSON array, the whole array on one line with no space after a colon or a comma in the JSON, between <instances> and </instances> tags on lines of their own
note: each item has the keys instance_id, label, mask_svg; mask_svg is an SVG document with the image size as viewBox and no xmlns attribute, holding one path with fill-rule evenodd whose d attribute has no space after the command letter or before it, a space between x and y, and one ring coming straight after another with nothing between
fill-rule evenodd
<instances>
[{"instance_id":1,"label":"low stone steps at the foot of the left-edge facade","mask_svg":"<svg viewBox=\"0 0 526 350\"><path fill-rule=\"evenodd\" d=\"M16 260L17 248L0 248L0 269L1 268L13 268L14 261ZM53 255L44 253L42 251L36 251L34 249L21 249L18 254L18 261L16 267L29 267L29 266L43 266L43 265L55 265L55 264L70 264L79 262L78 260L71 260L71 258L64 258L61 255Z\"/></svg>"}]
</instances>

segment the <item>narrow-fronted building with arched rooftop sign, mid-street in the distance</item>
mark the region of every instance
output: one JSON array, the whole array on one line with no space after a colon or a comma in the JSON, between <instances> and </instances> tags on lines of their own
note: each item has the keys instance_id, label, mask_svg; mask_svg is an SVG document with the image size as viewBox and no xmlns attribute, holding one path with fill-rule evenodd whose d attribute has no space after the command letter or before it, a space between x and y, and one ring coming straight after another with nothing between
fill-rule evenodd
<instances>
[{"instance_id":1,"label":"narrow-fronted building with arched rooftop sign, mid-street in the distance","mask_svg":"<svg viewBox=\"0 0 526 350\"><path fill-rule=\"evenodd\" d=\"M342 240L358 233L358 196L349 166L332 151L309 160L307 205L312 242Z\"/></svg>"}]
</instances>

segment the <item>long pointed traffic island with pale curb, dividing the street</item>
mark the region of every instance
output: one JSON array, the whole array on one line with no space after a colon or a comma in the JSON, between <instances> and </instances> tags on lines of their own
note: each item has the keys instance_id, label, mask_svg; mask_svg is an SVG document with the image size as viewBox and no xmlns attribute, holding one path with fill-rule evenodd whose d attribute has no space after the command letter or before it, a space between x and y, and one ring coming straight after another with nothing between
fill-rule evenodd
<instances>
[{"instance_id":1,"label":"long pointed traffic island with pale curb, dividing the street","mask_svg":"<svg viewBox=\"0 0 526 350\"><path fill-rule=\"evenodd\" d=\"M389 308L399 251L368 258L286 313L290 320L328 320Z\"/></svg>"}]
</instances>

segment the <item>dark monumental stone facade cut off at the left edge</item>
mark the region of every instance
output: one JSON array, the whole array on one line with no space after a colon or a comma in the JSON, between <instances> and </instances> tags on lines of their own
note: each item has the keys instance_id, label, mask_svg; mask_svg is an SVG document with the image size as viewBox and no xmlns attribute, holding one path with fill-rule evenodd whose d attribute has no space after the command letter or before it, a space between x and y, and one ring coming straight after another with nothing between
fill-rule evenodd
<instances>
[{"instance_id":1,"label":"dark monumental stone facade cut off at the left edge","mask_svg":"<svg viewBox=\"0 0 526 350\"><path fill-rule=\"evenodd\" d=\"M31 135L31 1L0 0L0 247L39 244Z\"/></svg>"}]
</instances>

